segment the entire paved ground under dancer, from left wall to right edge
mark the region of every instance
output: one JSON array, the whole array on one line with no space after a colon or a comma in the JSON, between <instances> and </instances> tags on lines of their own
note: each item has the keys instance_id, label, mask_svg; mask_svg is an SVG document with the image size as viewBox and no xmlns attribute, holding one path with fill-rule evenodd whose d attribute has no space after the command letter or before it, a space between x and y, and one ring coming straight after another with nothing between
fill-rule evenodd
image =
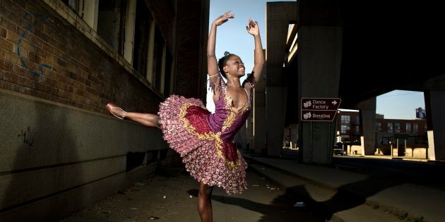
<instances>
[{"instance_id":1,"label":"entire paved ground under dancer, from left wall to right edge","mask_svg":"<svg viewBox=\"0 0 445 222\"><path fill-rule=\"evenodd\" d=\"M427 222L444 218L445 193L437 189L437 183L433 187L407 183L390 172L376 176L287 159L246 158L249 188L242 195L227 196L215 187L215 222L328 221L325 218L330 222ZM161 172L63 221L200 221L198 183L183 167ZM295 206L297 202L304 206Z\"/></svg>"}]
</instances>

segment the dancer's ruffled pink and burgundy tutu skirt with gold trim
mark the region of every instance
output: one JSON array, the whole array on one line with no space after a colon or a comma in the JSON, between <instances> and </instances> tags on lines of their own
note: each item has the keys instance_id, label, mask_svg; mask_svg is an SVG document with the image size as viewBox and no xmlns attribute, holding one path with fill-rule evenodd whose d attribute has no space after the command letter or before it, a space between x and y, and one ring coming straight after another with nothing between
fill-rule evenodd
<instances>
[{"instance_id":1,"label":"dancer's ruffled pink and burgundy tutu skirt with gold trim","mask_svg":"<svg viewBox=\"0 0 445 222\"><path fill-rule=\"evenodd\" d=\"M160 104L158 115L164 140L181 155L191 176L228 195L247 189L246 162L233 142L210 130L210 111L201 100L172 95Z\"/></svg>"}]
</instances>

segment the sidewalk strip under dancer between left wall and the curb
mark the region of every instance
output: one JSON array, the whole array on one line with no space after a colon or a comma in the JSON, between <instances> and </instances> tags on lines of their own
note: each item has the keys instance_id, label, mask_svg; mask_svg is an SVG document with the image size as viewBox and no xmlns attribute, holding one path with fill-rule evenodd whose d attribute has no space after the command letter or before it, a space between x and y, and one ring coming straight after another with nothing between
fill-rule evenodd
<instances>
[{"instance_id":1,"label":"sidewalk strip under dancer between left wall and the curb","mask_svg":"<svg viewBox=\"0 0 445 222\"><path fill-rule=\"evenodd\" d=\"M249 185L242 195L213 191L214 221L326 221L304 206L294 206L283 189L248 169ZM64 222L89 221L200 221L196 211L198 183L184 168L166 168L117 195L103 199Z\"/></svg>"}]
</instances>

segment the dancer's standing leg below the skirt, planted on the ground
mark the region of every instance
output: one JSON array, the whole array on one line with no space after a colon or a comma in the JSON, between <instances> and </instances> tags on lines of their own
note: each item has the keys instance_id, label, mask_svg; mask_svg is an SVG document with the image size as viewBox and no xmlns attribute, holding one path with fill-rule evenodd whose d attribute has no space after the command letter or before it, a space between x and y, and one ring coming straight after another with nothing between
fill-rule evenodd
<instances>
[{"instance_id":1,"label":"dancer's standing leg below the skirt, planted on the ground","mask_svg":"<svg viewBox=\"0 0 445 222\"><path fill-rule=\"evenodd\" d=\"M198 192L198 213L201 222L212 222L212 191L213 186L206 185L202 181L199 183Z\"/></svg>"}]
</instances>

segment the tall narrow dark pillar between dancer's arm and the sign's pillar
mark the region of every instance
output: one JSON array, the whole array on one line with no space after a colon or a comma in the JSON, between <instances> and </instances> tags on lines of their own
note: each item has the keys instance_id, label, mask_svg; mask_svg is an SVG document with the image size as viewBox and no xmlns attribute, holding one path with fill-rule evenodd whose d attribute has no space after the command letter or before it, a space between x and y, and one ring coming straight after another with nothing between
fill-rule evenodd
<instances>
[{"instance_id":1,"label":"tall narrow dark pillar between dancer's arm and the sign's pillar","mask_svg":"<svg viewBox=\"0 0 445 222\"><path fill-rule=\"evenodd\" d=\"M280 156L285 128L283 42L287 41L290 21L297 20L297 3L268 2L266 18L266 149L268 156Z\"/></svg>"}]
</instances>

